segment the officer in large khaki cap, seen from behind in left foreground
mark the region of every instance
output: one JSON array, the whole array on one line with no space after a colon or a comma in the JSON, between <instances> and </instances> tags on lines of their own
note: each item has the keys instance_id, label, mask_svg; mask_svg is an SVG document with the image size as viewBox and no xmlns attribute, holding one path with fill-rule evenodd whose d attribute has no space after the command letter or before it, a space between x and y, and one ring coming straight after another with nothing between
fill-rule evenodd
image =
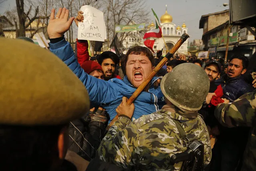
<instances>
[{"instance_id":1,"label":"officer in large khaki cap, seen from behind in left foreground","mask_svg":"<svg viewBox=\"0 0 256 171\"><path fill-rule=\"evenodd\" d=\"M118 170L67 153L69 122L89 111L77 76L30 42L0 38L0 47L0 171Z\"/></svg>"}]
</instances>

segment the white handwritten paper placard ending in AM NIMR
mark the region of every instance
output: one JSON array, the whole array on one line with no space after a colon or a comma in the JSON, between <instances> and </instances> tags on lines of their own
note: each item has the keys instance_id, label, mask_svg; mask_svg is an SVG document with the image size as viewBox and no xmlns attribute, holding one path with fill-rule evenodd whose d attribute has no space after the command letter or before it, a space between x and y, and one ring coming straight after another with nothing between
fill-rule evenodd
<instances>
[{"instance_id":1,"label":"white handwritten paper placard ending in AM NIMR","mask_svg":"<svg viewBox=\"0 0 256 171\"><path fill-rule=\"evenodd\" d=\"M82 6L80 11L84 20L78 23L77 38L104 42L107 35L103 12L89 5Z\"/></svg>"}]
</instances>

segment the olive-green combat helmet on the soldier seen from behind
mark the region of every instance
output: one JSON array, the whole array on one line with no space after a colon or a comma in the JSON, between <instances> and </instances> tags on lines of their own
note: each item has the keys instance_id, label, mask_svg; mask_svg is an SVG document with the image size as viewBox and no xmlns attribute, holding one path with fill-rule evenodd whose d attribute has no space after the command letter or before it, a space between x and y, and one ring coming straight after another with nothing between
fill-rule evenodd
<instances>
[{"instance_id":1,"label":"olive-green combat helmet on the soldier seen from behind","mask_svg":"<svg viewBox=\"0 0 256 171\"><path fill-rule=\"evenodd\" d=\"M201 109L209 93L210 80L200 66L192 63L179 64L161 80L165 98L183 111Z\"/></svg>"}]
</instances>

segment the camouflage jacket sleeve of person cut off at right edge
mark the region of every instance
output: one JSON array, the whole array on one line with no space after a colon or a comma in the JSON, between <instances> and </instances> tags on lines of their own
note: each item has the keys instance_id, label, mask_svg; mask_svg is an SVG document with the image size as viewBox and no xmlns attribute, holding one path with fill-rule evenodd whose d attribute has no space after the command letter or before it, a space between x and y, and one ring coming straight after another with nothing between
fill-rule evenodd
<instances>
[{"instance_id":1,"label":"camouflage jacket sleeve of person cut off at right edge","mask_svg":"<svg viewBox=\"0 0 256 171\"><path fill-rule=\"evenodd\" d=\"M214 115L226 127L252 127L242 171L256 171L256 90L242 95L230 105L218 105Z\"/></svg>"}]
</instances>

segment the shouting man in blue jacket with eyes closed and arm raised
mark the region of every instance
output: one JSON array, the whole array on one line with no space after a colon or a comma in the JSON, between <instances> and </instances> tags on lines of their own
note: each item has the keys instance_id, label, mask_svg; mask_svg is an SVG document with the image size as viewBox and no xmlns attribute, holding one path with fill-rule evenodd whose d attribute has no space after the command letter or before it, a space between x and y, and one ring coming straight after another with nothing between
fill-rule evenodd
<instances>
[{"instance_id":1,"label":"shouting man in blue jacket with eyes closed and arm raised","mask_svg":"<svg viewBox=\"0 0 256 171\"><path fill-rule=\"evenodd\" d=\"M56 54L78 76L85 85L90 101L101 103L110 120L117 115L115 109L122 102L122 97L131 97L139 85L149 76L154 68L154 57L149 49L136 46L127 52L125 70L127 76L123 80L113 78L109 81L99 80L87 74L75 59L75 54L64 33L69 30L74 17L69 18L69 10L60 8L54 18L53 9L47 32L50 38L50 50ZM69 20L68 20L69 18ZM144 91L134 101L133 117L138 119L142 115L158 111L165 104L160 86L153 83L159 79L154 77ZM75 91L75 90L74 90Z\"/></svg>"}]
</instances>

